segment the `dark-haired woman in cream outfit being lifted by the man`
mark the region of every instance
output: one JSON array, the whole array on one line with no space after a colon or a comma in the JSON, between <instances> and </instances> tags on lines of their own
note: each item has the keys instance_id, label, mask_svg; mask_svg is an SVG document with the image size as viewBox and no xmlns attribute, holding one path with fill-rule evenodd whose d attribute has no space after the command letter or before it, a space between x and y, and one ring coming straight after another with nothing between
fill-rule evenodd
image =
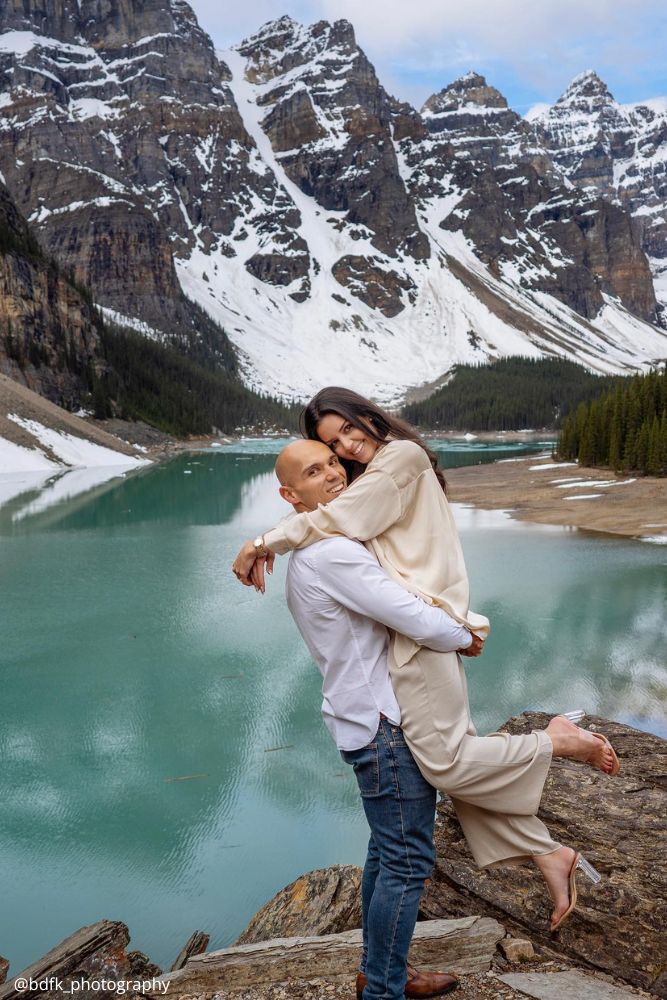
<instances>
[{"instance_id":1,"label":"dark-haired woman in cream outfit being lifted by the man","mask_svg":"<svg viewBox=\"0 0 667 1000\"><path fill-rule=\"evenodd\" d=\"M283 553L341 534L367 542L390 576L485 639L488 620L469 608L468 578L444 477L416 432L357 393L337 387L311 400L303 430L335 452L352 485L335 502L267 532L266 549ZM257 547L248 543L237 556L234 572L242 582L250 582L256 555ZM552 756L617 773L609 743L563 716L525 736L478 737L456 653L435 653L394 634L389 665L405 739L426 780L451 797L477 864L533 861L554 901L555 930L574 908L577 868L594 881L599 876L577 852L552 840L537 818L544 781Z\"/></svg>"}]
</instances>

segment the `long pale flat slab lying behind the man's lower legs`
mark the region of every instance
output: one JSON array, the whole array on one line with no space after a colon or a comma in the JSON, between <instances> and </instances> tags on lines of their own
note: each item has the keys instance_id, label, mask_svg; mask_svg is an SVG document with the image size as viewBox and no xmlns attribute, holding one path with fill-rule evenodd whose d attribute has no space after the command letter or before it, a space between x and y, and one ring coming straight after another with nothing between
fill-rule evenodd
<instances>
[{"instance_id":1,"label":"long pale flat slab lying behind the man's lower legs","mask_svg":"<svg viewBox=\"0 0 667 1000\"><path fill-rule=\"evenodd\" d=\"M488 917L428 920L417 925L410 960L422 968L444 968L459 974L486 971L505 929ZM191 958L179 972L160 978L148 996L221 993L225 989L266 986L291 979L324 977L352 980L359 968L361 931L322 937L275 938L260 944L236 945Z\"/></svg>"}]
</instances>

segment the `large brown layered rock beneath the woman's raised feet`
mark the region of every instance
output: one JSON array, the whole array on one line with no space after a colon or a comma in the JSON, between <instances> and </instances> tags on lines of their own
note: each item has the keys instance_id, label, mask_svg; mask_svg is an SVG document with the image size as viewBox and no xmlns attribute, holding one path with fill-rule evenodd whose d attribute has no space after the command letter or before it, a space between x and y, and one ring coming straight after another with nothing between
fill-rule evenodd
<instances>
[{"instance_id":1,"label":"large brown layered rock beneath the woman's raised feet","mask_svg":"<svg viewBox=\"0 0 667 1000\"><path fill-rule=\"evenodd\" d=\"M550 716L525 713L503 728L541 729ZM422 897L429 918L482 913L580 965L667 997L667 741L629 726L586 717L621 761L610 778L576 761L555 761L540 816L554 839L581 850L602 874L578 879L579 902L550 934L550 902L533 866L480 871L448 800L438 807L437 863Z\"/></svg>"}]
</instances>

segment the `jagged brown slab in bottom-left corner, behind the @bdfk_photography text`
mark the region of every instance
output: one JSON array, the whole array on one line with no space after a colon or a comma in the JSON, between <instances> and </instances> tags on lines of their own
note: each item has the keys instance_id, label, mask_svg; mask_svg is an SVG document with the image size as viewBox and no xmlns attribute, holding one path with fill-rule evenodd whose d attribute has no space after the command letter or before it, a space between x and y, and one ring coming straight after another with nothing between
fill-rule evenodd
<instances>
[{"instance_id":1,"label":"jagged brown slab in bottom-left corner, behind the @bdfk_photography text","mask_svg":"<svg viewBox=\"0 0 667 1000\"><path fill-rule=\"evenodd\" d=\"M0 1000L63 1000L72 980L135 979L132 962L126 952L130 934L125 924L100 920L71 934L17 976L10 976L0 987ZM157 969L157 966L154 966ZM158 970L159 971L159 970ZM16 980L33 980L34 989L17 988ZM100 989L76 989L77 1000L100 1000Z\"/></svg>"}]
</instances>

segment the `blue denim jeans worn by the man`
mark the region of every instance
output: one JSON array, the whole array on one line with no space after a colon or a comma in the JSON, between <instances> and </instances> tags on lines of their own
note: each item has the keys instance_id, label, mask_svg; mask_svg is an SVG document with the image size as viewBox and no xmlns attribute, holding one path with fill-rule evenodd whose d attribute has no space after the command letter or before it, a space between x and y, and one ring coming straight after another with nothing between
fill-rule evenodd
<instances>
[{"instance_id":1,"label":"blue denim jeans worn by the man","mask_svg":"<svg viewBox=\"0 0 667 1000\"><path fill-rule=\"evenodd\" d=\"M406 962L419 900L435 862L435 789L403 732L380 720L361 750L341 750L359 784L371 837L361 884L363 1000L404 1000Z\"/></svg>"}]
</instances>

